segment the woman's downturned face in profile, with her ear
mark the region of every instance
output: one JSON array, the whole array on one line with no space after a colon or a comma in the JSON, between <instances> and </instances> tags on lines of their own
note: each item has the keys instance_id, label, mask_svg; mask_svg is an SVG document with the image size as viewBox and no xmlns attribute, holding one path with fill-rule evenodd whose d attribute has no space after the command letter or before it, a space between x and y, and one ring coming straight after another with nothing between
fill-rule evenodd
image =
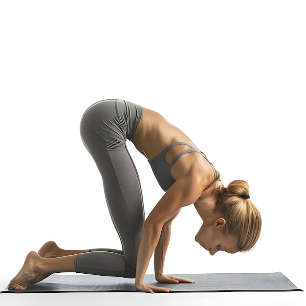
<instances>
[{"instance_id":1,"label":"woman's downturned face in profile, with her ear","mask_svg":"<svg viewBox=\"0 0 306 306\"><path fill-rule=\"evenodd\" d=\"M237 239L235 237L229 237L226 235L224 233L225 220L218 220L216 220L213 224L203 224L199 229L195 240L205 250L209 251L210 255L215 255L218 251L232 254L237 253Z\"/></svg>"}]
</instances>

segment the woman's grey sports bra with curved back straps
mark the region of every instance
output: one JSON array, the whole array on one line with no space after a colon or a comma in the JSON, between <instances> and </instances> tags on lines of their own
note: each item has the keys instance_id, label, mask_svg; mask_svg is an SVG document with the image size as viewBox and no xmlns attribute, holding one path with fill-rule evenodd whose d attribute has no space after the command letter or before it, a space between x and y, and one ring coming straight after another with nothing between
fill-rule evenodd
<instances>
[{"instance_id":1,"label":"woman's grey sports bra with curved back straps","mask_svg":"<svg viewBox=\"0 0 306 306\"><path fill-rule=\"evenodd\" d=\"M187 149L185 151L182 151L178 153L175 158L171 161L170 164L166 162L165 155L166 153L173 147L177 145L187 145L190 147L190 149ZM166 147L163 151L161 151L157 156L149 160L149 163L151 165L151 168L153 170L153 173L160 185L160 187L166 192L169 187L175 182L175 179L173 178L171 174L171 168L176 162L176 160L181 157L183 154L190 153L190 152L198 152L203 155L203 157L209 162L209 164L212 166L213 171L214 171L214 181L216 178L216 171L213 166L213 164L207 159L206 155L197 150L193 145L186 143L186 142L175 142Z\"/></svg>"}]
</instances>

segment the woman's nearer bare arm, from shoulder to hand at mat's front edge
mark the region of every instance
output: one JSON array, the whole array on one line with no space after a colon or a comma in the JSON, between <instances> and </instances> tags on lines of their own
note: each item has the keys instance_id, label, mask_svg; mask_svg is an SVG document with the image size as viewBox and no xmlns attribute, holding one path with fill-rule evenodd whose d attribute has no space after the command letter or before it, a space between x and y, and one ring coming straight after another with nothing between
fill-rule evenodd
<instances>
[{"instance_id":1,"label":"woman's nearer bare arm, from shoulder to hand at mat's front edge","mask_svg":"<svg viewBox=\"0 0 306 306\"><path fill-rule=\"evenodd\" d=\"M139 245L135 287L137 290L153 293L153 290L169 292L171 289L146 285L143 282L150 259L160 239L164 224L178 213L183 206L194 203L202 193L202 184L197 178L176 180L156 204L145 221Z\"/></svg>"}]
</instances>

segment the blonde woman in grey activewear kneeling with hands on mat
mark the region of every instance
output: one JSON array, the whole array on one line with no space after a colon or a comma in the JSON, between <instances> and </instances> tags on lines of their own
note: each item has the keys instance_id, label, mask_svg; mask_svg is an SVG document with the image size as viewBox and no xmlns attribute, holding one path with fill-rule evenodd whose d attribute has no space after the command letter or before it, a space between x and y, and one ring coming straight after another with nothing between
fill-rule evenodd
<instances>
[{"instance_id":1,"label":"blonde woman in grey activewear kneeling with hands on mat","mask_svg":"<svg viewBox=\"0 0 306 306\"><path fill-rule=\"evenodd\" d=\"M137 290L171 289L144 284L154 252L155 277L161 283L193 283L163 274L171 223L183 206L195 205L203 225L196 241L214 255L248 251L261 231L261 215L249 200L248 184L224 188L219 172L191 139L150 109L123 100L104 100L84 113L82 140L103 178L105 196L122 250L63 250L55 242L30 252L9 289L25 289L52 273L77 272L135 278ZM126 140L149 160L165 195L144 220L142 192ZM137 262L137 264L136 264Z\"/></svg>"}]
</instances>

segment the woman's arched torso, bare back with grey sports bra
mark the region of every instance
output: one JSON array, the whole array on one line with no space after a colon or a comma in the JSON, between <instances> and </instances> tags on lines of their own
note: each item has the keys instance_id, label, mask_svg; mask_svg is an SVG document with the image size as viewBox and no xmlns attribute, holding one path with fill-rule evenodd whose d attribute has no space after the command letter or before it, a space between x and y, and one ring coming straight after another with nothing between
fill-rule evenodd
<instances>
[{"instance_id":1,"label":"woman's arched torso, bare back with grey sports bra","mask_svg":"<svg viewBox=\"0 0 306 306\"><path fill-rule=\"evenodd\" d=\"M153 110L143 108L142 118L132 142L149 160L164 191L168 190L175 180L185 178L191 173L200 177L203 190L215 179L215 169L205 154L185 133Z\"/></svg>"}]
</instances>

